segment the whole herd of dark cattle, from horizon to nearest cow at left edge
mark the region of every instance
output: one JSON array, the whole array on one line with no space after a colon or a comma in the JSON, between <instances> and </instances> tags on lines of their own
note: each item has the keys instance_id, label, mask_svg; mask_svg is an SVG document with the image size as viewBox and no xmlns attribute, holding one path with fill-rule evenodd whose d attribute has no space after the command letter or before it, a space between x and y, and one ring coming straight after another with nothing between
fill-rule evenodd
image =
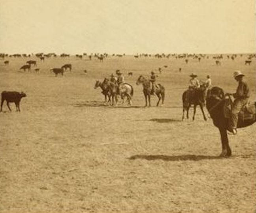
<instances>
[{"instance_id":1,"label":"whole herd of dark cattle, from horizon to nearest cow at left edge","mask_svg":"<svg viewBox=\"0 0 256 213\"><path fill-rule=\"evenodd\" d=\"M95 58L96 60L99 60L99 62L104 62L104 60L106 60L108 57L123 57L125 56L125 54L99 54L99 53L94 53L94 54L87 54L87 53L83 53L83 54L75 54L75 57L79 60L92 60L93 58ZM37 60L40 60L40 62L44 62L47 58L56 58L56 57L60 57L60 58L69 58L70 54L65 54L62 53L59 56L57 56L57 54L55 53L48 53L48 54L44 54L44 53L37 53L37 54L4 54L4 53L0 53L0 59L3 60L3 64L8 66L10 64L10 59L11 58L33 58L34 60L28 60L26 61L26 64L22 65L19 70L22 70L23 72L26 71L31 71L31 67L36 67L34 69L34 71L36 73L39 73L40 68L38 68L38 64L37 64ZM184 62L186 64L188 64L190 62L190 60L197 60L198 62L201 62L201 60L203 59L212 59L215 63L216 66L221 66L221 61L224 59L224 57L226 57L226 59L228 60L235 60L237 57L244 57L245 58L245 65L250 65L252 63L252 59L256 58L256 54L230 54L230 55L214 55L214 56L210 56L210 55L206 55L206 54L136 54L134 55L135 60L139 60L140 58L150 58L150 57L154 57L154 58L172 58L172 59L178 59L178 60L184 60ZM163 66L164 68L167 68L167 65ZM179 68L179 72L181 72L182 68ZM55 77L57 77L58 75L63 75L64 71L72 71L72 64L64 64L61 67L54 67L52 69L50 69L51 72L53 72L55 74ZM161 74L162 73L162 67L158 67L158 72ZM87 70L83 70L84 73L87 73ZM133 72L128 72L128 76L133 76ZM11 111L10 107L9 107L9 103L10 102L14 102L16 105L16 110L20 111L19 108L19 103L21 101L22 97L26 97L26 94L21 92L7 92L4 91L2 92L2 100L1 100L1 110L2 111L2 105L3 102L6 101L7 102L7 106L9 108L9 110Z\"/></svg>"}]
</instances>

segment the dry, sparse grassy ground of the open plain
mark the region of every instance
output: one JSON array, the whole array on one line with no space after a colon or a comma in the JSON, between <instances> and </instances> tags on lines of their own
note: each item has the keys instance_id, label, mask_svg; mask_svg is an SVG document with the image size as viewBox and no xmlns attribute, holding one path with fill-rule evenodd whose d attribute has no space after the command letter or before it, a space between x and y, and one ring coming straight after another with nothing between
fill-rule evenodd
<instances>
[{"instance_id":1,"label":"dry, sparse grassy ground of the open plain","mask_svg":"<svg viewBox=\"0 0 256 213\"><path fill-rule=\"evenodd\" d=\"M26 58L0 61L0 92L24 91L21 112L0 113L0 212L251 213L256 210L256 124L229 136L233 155L219 158L220 135L212 120L181 121L181 95L189 75L234 92L233 71L245 73L256 97L256 60L245 55L221 66L215 60L132 56L38 60L40 73L21 72ZM71 63L54 77L49 71ZM164 68L164 65L168 65ZM166 88L163 107L144 108L136 80L152 70ZM182 71L179 72L179 67ZM36 68L36 67L35 67ZM83 70L87 69L88 73ZM95 81L120 69L134 86L132 107L104 103ZM132 71L133 77L127 73ZM207 110L205 109L205 112Z\"/></svg>"}]
</instances>

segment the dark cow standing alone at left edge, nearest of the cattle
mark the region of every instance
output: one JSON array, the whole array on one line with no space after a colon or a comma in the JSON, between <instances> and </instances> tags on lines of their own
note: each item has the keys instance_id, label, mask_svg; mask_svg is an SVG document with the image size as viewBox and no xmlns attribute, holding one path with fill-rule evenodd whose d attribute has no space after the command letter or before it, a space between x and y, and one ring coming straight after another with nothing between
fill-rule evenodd
<instances>
[{"instance_id":1,"label":"dark cow standing alone at left edge, nearest of the cattle","mask_svg":"<svg viewBox=\"0 0 256 213\"><path fill-rule=\"evenodd\" d=\"M1 99L0 112L2 112L2 107L3 107L3 104L4 104L5 100L6 100L6 104L7 104L7 107L9 108L10 112L11 112L11 108L9 106L10 102L14 102L15 106L16 106L16 111L20 112L21 110L20 110L20 107L19 107L19 103L20 103L22 97L26 97L26 94L24 92L19 93L19 92L3 91L1 93L1 96L2 96L2 99Z\"/></svg>"}]
</instances>

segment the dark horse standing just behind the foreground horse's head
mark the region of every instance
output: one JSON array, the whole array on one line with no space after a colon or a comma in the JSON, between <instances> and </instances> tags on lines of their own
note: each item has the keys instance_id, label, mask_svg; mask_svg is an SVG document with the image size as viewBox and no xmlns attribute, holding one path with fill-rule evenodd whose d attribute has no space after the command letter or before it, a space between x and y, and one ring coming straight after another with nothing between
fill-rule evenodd
<instances>
[{"instance_id":1,"label":"dark horse standing just behind the foreground horse's head","mask_svg":"<svg viewBox=\"0 0 256 213\"><path fill-rule=\"evenodd\" d=\"M188 111L192 104L194 105L193 120L195 120L197 105L199 105L201 108L201 111L203 113L203 119L205 121L207 120L205 113L203 111L205 92L206 92L206 87L204 85L201 85L200 88L188 89L185 92L183 92L183 94L182 94L182 102L183 102L182 120L184 120L185 111L187 111L186 117L188 119Z\"/></svg>"}]
</instances>

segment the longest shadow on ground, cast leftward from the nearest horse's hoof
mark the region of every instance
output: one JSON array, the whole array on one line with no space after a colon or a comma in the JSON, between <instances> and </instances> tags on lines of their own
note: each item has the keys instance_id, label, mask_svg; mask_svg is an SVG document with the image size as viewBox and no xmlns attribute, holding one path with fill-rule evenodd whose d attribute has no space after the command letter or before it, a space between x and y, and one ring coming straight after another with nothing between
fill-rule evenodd
<instances>
[{"instance_id":1,"label":"longest shadow on ground, cast leftward from the nearest horse's hoof","mask_svg":"<svg viewBox=\"0 0 256 213\"><path fill-rule=\"evenodd\" d=\"M145 159L147 161L200 161L200 160L212 160L220 159L219 156L207 156L207 155L177 155L177 156L168 156L168 155L133 155L129 157L129 160L136 159Z\"/></svg>"}]
</instances>

